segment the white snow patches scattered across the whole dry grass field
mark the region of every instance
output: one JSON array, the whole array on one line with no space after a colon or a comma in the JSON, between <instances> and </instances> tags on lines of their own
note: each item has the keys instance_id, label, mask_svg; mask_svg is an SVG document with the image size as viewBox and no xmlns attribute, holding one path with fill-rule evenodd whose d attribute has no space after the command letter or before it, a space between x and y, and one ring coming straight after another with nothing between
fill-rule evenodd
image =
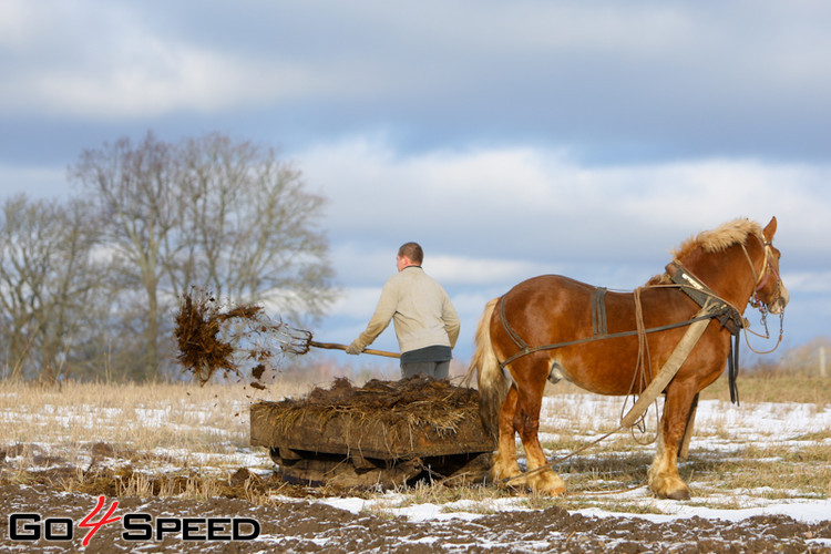
<instances>
[{"instance_id":1,"label":"white snow patches scattered across the whole dry grass field","mask_svg":"<svg viewBox=\"0 0 831 554\"><path fill-rule=\"evenodd\" d=\"M653 409L654 410L654 409ZM245 407L240 406L239 411L245 413ZM625 408L622 408L619 398L596 397L591 394L566 394L544 398L541 411L541 439L556 437L567 437L570 439L579 439L589 441L601 437L617 425L617 421ZM25 418L29 422L43 420L41 424L59 425L86 425L95 422L96 425L106 424L109 421L121 418L117 409L102 409L94 406L75 406L71 409L54 406L43 406L38 413L14 413L6 411L0 414L0 424L3 422L18 421ZM131 416L133 416L131 413ZM142 424L154 428L164 428L166 425L181 425L181 422L168 421L170 410L147 408L146 410L135 410L133 417L140 418ZM204 407L194 407L193 410L194 425L209 420L209 410ZM652 418L652 432L654 433L655 417L650 413L647 420ZM34 419L34 420L33 420ZM203 427L203 430L205 427ZM591 429L591 431L586 431ZM729 402L707 400L701 401L698 406L696 417L696 434L693 438L690 450L693 452L719 452L730 453L746 449L749 445L787 445L792 449L799 449L802 444L825 444L831 448L829 439L807 439L810 433L827 432L831 429L831 404L819 406L813 403L793 403L793 402L760 402L742 403L732 406ZM228 442L217 449L217 443L223 444L228 430L211 430L212 435L219 438L212 444L208 452L199 452L196 449L156 449L156 454L162 462L153 468L140 469L138 471L165 471L175 472L181 469L181 462L184 461L187 466L199 466L204 471L230 472L238 468L248 468L250 471L259 474L266 474L271 471L273 463L265 449L252 447L240 447L244 442L237 438L237 445ZM237 434L239 431L236 431ZM647 429L647 434L650 432ZM50 442L50 441L54 441ZM60 433L52 435L47 441L37 443L38 448L44 452L65 451L66 444L61 444ZM7 444L9 447L9 444ZM75 447L76 448L76 447ZM632 442L632 452L652 452L654 445L639 445ZM556 456L563 452L547 451L548 456ZM79 453L79 461L88 464L89 459L83 459L85 454ZM11 464L25 463L25 460L16 460L8 458L7 462ZM179 463L177 466L176 464ZM521 460L521 463L523 461ZM43 469L41 466L40 469ZM695 483L694 483L695 484ZM831 491L831 483L824 485ZM828 496L828 494L825 494ZM741 506L739 509L718 509L700 505L694 499L690 502L665 501L654 499L645 486L635 490L612 493L609 496L614 500L625 501L627 504L634 504L647 507L644 512L657 513L633 513L633 517L640 517L654 522L665 522L671 519L684 519L699 516L705 519L720 519L728 521L738 521L755 515L782 514L793 517L798 521L815 522L824 521L831 517L831 501L827 497L806 499L794 497L782 500L781 497L768 499L765 491L748 490L739 493L729 493L729 505ZM291 499L285 499L287 502ZM456 501L447 504L417 503L413 495L409 492L388 492L379 494L371 500L358 497L329 497L320 500L326 504L348 510L353 513L370 511L376 513L388 513L406 516L410 521L445 521L452 519L475 520L486 513L501 511L531 510L529 507L527 496L517 495L515 497L491 497L483 501ZM718 502L708 502L710 505L718 505ZM593 516L624 516L620 512L606 512L596 507L578 510L578 513Z\"/></svg>"}]
</instances>

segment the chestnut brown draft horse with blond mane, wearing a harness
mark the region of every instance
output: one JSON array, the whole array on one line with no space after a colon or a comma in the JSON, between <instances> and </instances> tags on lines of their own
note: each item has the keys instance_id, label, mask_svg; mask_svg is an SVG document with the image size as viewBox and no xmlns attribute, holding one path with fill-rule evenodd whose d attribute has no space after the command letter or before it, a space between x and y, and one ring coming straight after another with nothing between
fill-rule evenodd
<instances>
[{"instance_id":1,"label":"chestnut brown draft horse with blond mane, wearing a harness","mask_svg":"<svg viewBox=\"0 0 831 554\"><path fill-rule=\"evenodd\" d=\"M712 299L724 309L704 324L704 335L663 390L657 453L648 472L657 496L688 499L677 459L688 427L691 430L698 392L724 371L731 335L740 331L748 301L765 304L771 314L781 314L788 304L779 277L780 254L772 245L776 228L773 217L765 229L737 219L700 233L674 253L666 274L634 293L546 275L491 300L468 372L472 378L478 371L482 420L497 437L491 478L514 478L514 484L563 493L565 483L547 466L537 439L545 381L566 379L599 394L639 394L704 300ZM515 432L527 458L524 474L516 462Z\"/></svg>"}]
</instances>

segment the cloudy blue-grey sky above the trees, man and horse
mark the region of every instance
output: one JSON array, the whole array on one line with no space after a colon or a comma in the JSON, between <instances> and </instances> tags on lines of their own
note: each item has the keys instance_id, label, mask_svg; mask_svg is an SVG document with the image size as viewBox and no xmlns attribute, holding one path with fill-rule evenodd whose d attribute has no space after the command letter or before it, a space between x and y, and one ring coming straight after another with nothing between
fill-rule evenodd
<instances>
[{"instance_id":1,"label":"cloudy blue-grey sky above the trees, man and horse","mask_svg":"<svg viewBox=\"0 0 831 554\"><path fill-rule=\"evenodd\" d=\"M777 216L794 347L831 335L829 21L820 0L0 0L0 189L66 194L83 148L151 130L276 146L329 198L345 294L316 337L351 341L418 240L460 358L525 278L633 289L687 237Z\"/></svg>"}]
</instances>

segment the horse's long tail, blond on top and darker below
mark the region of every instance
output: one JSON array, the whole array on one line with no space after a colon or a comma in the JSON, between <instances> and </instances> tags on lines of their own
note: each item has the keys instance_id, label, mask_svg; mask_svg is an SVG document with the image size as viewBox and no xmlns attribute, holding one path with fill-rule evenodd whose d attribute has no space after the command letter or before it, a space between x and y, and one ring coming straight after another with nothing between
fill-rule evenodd
<instances>
[{"instance_id":1,"label":"horse's long tail, blond on top and darker below","mask_svg":"<svg viewBox=\"0 0 831 554\"><path fill-rule=\"evenodd\" d=\"M499 298L488 302L482 319L479 320L476 349L468 373L464 376L464 380L470 383L473 372L478 372L479 413L482 425L494 439L499 437L499 413L509 384L491 342L491 318L493 310L496 309L496 302Z\"/></svg>"}]
</instances>

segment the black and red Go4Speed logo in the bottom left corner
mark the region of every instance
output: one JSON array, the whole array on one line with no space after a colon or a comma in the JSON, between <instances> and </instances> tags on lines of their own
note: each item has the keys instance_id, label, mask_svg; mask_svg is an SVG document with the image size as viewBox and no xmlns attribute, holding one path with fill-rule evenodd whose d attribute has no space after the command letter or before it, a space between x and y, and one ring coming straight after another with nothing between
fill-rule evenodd
<instances>
[{"instance_id":1,"label":"black and red Go4Speed logo in the bottom left corner","mask_svg":"<svg viewBox=\"0 0 831 554\"><path fill-rule=\"evenodd\" d=\"M75 527L85 531L81 544L90 540L104 525L121 524L125 541L162 541L178 536L183 541L252 541L259 536L260 527L250 517L153 517L146 513L114 515L119 502L113 501L102 515L105 496L99 496L95 507L78 524L70 517L42 517L38 513L14 513L9 516L9 538L20 542L72 541Z\"/></svg>"}]
</instances>

